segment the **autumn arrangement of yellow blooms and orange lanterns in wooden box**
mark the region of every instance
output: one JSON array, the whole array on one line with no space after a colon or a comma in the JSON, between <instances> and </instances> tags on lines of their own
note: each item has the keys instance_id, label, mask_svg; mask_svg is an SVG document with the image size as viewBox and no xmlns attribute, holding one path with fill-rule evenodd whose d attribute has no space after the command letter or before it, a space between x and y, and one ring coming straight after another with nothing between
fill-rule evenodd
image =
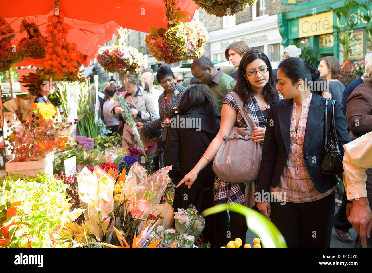
<instances>
[{"instance_id":1,"label":"autumn arrangement of yellow blooms and orange lanterns in wooden box","mask_svg":"<svg viewBox=\"0 0 372 273\"><path fill-rule=\"evenodd\" d=\"M70 139L70 126L77 120L67 122L64 113L59 114L51 103L33 103L28 116L23 117L18 110L16 116L12 133L7 137L16 162L42 159L48 153L63 151L74 143Z\"/></svg>"}]
</instances>

